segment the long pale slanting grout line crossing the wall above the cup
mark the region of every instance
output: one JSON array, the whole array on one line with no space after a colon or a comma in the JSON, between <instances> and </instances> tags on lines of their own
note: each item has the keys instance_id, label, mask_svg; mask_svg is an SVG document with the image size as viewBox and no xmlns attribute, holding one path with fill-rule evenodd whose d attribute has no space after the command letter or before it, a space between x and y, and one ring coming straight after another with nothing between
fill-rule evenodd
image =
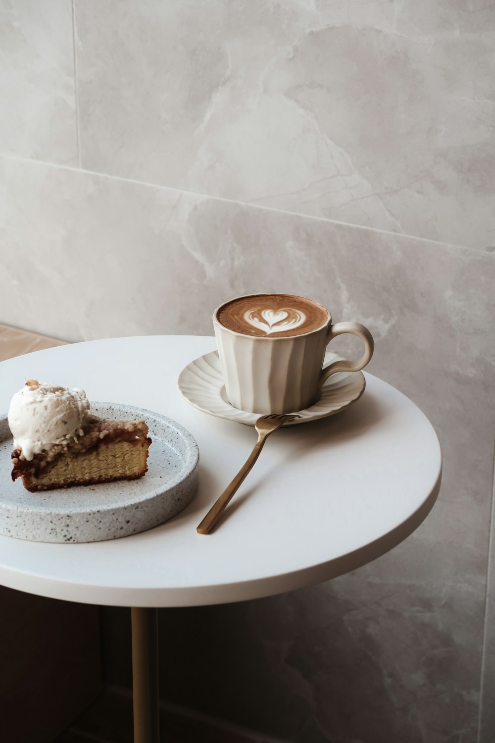
<instances>
[{"instance_id":1,"label":"long pale slanting grout line crossing the wall above the cup","mask_svg":"<svg viewBox=\"0 0 495 743\"><path fill-rule=\"evenodd\" d=\"M74 54L75 54L75 47L74 47ZM77 107L77 103L76 103ZM76 117L78 122L78 137L79 137L79 116ZM78 142L78 152L80 153L79 148L79 142ZM422 242L427 242L432 245L438 245L439 247L448 247L451 250L470 250L473 253L476 253L476 255L481 256L493 256L495 259L495 253L490 253L486 250L483 250L483 248L477 248L477 247L471 247L469 245L456 245L450 242L442 242L441 240L432 240L428 237L419 237L416 235L406 235L405 233L394 233L390 232L390 230L378 230L377 227L368 227L364 224L353 224L352 222L341 222L336 219L329 219L327 217L318 217L314 214L304 214L304 212L292 212L287 211L284 209L276 209L275 207L266 207L263 206L263 204L250 204L249 201L235 201L235 199L232 198L226 198L225 196L217 196L217 195L211 195L207 193L199 193L197 191L189 191L187 189L180 189L175 188L174 186L163 186L161 184L152 184L148 183L148 181L137 181L135 178L125 178L122 175L111 175L110 173L102 173L98 172L97 170L88 170L83 168L79 165L79 168L71 167L70 165L61 165L59 163L49 163L46 160L33 160L33 158L23 158L20 155L11 155L9 152L0 152L0 158L4 158L6 160L17 160L22 163L30 163L33 165L43 165L50 168L55 169L61 169L61 170L68 170L74 173L85 173L85 175L95 175L98 178L109 178L111 181L121 181L122 183L128 183L128 184L135 184L137 186L146 186L148 188L154 188L154 189L160 189L162 191L172 191L174 193L183 193L189 196L194 196L196 198L202 198L205 201L207 199L211 199L212 201L223 201L226 204L235 204L237 207L249 207L249 209L259 209L263 210L265 212L277 212L278 214L286 214L293 217L303 217L304 219L313 219L320 222L326 222L327 224L338 224L342 227L354 227L355 230L364 230L369 232L374 232L382 235L391 235L393 237L397 238L404 238L407 240L420 240ZM79 157L80 160L80 157Z\"/></svg>"}]
</instances>

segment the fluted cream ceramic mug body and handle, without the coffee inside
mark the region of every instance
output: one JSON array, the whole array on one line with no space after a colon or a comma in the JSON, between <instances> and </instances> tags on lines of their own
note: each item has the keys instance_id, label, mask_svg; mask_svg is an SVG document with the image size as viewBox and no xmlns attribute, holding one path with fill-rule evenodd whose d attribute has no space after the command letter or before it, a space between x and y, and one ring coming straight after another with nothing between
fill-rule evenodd
<instances>
[{"instance_id":1,"label":"fluted cream ceramic mug body and handle, without the coffee inside","mask_svg":"<svg viewBox=\"0 0 495 743\"><path fill-rule=\"evenodd\" d=\"M221 325L218 313L229 302L222 302L214 311L213 325L227 398L239 410L260 415L304 410L318 401L321 387L331 374L359 371L373 356L373 336L364 325L332 325L330 312L318 302L327 315L324 325L301 335L275 338L245 335ZM335 361L322 369L327 344L342 333L361 338L363 356L356 361Z\"/></svg>"}]
</instances>

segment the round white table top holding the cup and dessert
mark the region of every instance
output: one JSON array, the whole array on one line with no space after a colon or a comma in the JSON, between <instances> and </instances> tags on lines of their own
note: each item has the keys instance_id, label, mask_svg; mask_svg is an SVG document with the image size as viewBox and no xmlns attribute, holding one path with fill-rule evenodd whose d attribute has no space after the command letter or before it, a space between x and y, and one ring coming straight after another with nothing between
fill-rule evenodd
<instances>
[{"instance_id":1,"label":"round white table top holding the cup and dessert","mask_svg":"<svg viewBox=\"0 0 495 743\"><path fill-rule=\"evenodd\" d=\"M1 585L108 606L246 600L358 568L419 526L439 492L438 438L414 403L366 374L366 392L346 411L275 432L217 531L197 534L256 441L252 427L213 418L180 397L180 370L214 347L212 337L116 338L0 364L0 412L34 377L83 387L90 400L156 410L186 426L200 447L200 489L174 519L89 544L0 536Z\"/></svg>"}]
</instances>

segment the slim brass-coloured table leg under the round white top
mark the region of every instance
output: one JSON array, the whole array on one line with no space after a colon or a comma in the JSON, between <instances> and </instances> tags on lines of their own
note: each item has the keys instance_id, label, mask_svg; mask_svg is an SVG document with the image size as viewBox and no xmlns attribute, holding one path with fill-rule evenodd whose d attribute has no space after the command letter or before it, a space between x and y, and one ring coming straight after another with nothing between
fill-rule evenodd
<instances>
[{"instance_id":1,"label":"slim brass-coloured table leg under the round white top","mask_svg":"<svg viewBox=\"0 0 495 743\"><path fill-rule=\"evenodd\" d=\"M132 607L134 743L160 743L158 609Z\"/></svg>"}]
</instances>

